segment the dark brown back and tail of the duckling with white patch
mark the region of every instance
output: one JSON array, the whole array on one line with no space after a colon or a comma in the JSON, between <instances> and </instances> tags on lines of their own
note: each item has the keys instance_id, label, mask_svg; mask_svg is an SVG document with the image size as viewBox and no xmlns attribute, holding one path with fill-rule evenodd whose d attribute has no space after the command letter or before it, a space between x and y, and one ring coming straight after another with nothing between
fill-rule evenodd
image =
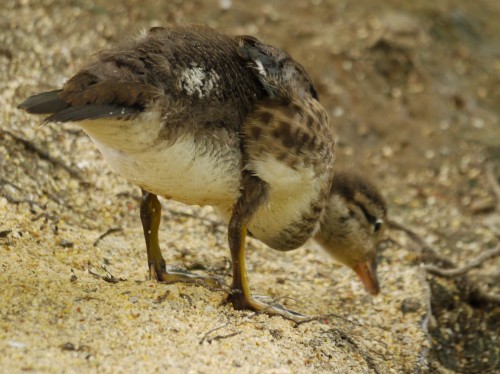
<instances>
[{"instance_id":1,"label":"dark brown back and tail of the duckling with white patch","mask_svg":"<svg viewBox=\"0 0 500 374\"><path fill-rule=\"evenodd\" d=\"M62 90L19 107L48 121L131 118L161 100L169 126L239 130L265 96L238 43L208 27L153 28L93 56ZM173 118L175 117L175 118Z\"/></svg>"}]
</instances>

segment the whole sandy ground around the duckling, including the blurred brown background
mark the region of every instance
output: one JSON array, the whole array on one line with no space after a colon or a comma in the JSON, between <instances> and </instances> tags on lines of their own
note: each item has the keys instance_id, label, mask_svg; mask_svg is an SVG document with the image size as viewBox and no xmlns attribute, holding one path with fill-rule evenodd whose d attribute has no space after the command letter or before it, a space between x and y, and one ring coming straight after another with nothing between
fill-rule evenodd
<instances>
[{"instance_id":1,"label":"whole sandy ground around the duckling, including the blurred brown background","mask_svg":"<svg viewBox=\"0 0 500 374\"><path fill-rule=\"evenodd\" d=\"M484 170L489 163L500 173L500 44L491 21L498 5L286 4L3 1L2 372L498 368L498 307L461 303L453 284L427 278L400 232L388 232L382 245L375 298L312 244L283 254L249 240L252 290L319 316L301 325L234 311L224 288L147 280L137 188L114 175L76 127L40 126L15 108L144 27L195 22L253 34L310 71L338 125L338 164L369 174L393 219L459 264L494 246L500 218ZM211 208L163 202L160 239L170 266L229 285L225 235ZM488 291L498 291L498 265L477 273L487 276ZM437 290L441 299L431 297Z\"/></svg>"}]
</instances>

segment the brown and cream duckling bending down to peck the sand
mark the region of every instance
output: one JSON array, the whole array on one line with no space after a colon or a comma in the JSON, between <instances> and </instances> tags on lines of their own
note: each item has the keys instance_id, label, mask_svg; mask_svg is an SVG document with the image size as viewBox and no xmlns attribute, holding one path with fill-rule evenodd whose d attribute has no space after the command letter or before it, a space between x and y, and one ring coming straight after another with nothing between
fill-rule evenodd
<instances>
[{"instance_id":1,"label":"brown and cream duckling bending down to peck the sand","mask_svg":"<svg viewBox=\"0 0 500 374\"><path fill-rule=\"evenodd\" d=\"M371 196L332 185L332 124L306 71L279 48L206 26L154 27L94 55L61 89L31 96L19 108L46 115L45 122L77 123L111 167L141 188L153 279L199 280L167 271L157 196L211 205L226 219L228 299L236 309L305 318L252 297L247 233L281 251L315 237L369 279L362 265L373 261L366 230L380 212L370 210ZM371 291L373 279L365 283Z\"/></svg>"}]
</instances>

